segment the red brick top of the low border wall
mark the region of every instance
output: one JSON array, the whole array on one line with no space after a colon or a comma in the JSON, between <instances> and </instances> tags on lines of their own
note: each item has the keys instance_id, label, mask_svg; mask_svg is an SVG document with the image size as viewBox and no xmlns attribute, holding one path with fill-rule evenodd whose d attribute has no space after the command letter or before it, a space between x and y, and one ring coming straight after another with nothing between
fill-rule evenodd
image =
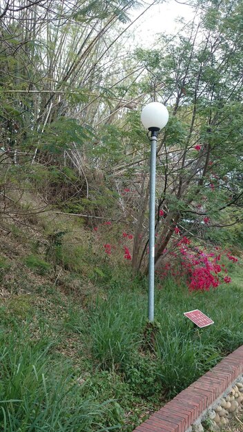
<instances>
[{"instance_id":1,"label":"red brick top of the low border wall","mask_svg":"<svg viewBox=\"0 0 243 432\"><path fill-rule=\"evenodd\" d=\"M226 391L230 391L237 377L243 373L243 345L225 357L174 397L134 432L185 432L192 430L197 419L215 404Z\"/></svg>"}]
</instances>

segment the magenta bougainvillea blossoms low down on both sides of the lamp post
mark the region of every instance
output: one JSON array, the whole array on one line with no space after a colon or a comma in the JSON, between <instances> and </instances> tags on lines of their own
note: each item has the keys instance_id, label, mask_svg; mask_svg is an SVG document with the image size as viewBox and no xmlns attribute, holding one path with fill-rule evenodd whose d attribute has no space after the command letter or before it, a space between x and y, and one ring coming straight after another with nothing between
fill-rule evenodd
<instances>
[{"instance_id":1,"label":"magenta bougainvillea blossoms low down on both sides of the lamp post","mask_svg":"<svg viewBox=\"0 0 243 432\"><path fill-rule=\"evenodd\" d=\"M110 231L109 231L110 230ZM94 228L97 242L99 243L99 253L103 257L115 257L122 262L130 265L132 260L133 234L126 230L117 233L117 239L113 242L103 242L104 239L112 238L111 222L104 222ZM103 243L102 243L103 242ZM155 247L157 247L156 245ZM146 253L149 253L147 248ZM181 234L179 228L175 227L175 238L170 250L164 250L164 259L156 269L155 273L159 279L168 276L186 279L189 290L209 291L217 288L222 282L229 284L229 267L237 263L230 251L222 250L220 247L212 246L208 251L208 246L195 246L192 240Z\"/></svg>"}]
</instances>

